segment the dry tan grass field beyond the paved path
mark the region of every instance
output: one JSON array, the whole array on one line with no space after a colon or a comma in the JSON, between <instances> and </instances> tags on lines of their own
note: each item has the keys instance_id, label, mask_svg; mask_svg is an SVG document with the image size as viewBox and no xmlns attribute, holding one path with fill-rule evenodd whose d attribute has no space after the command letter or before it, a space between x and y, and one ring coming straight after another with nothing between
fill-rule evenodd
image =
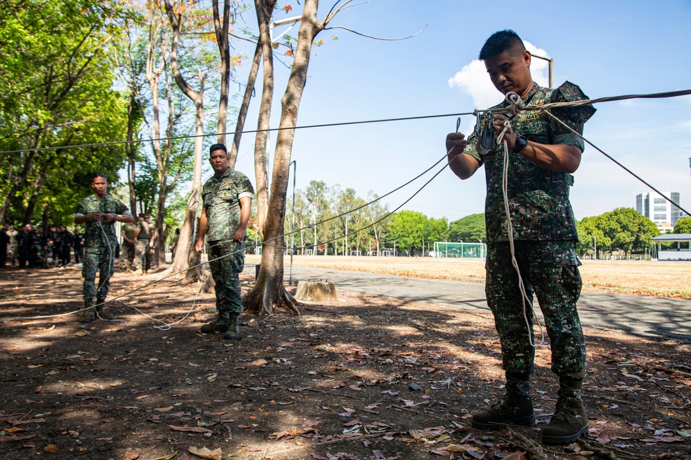
<instances>
[{"instance_id":1,"label":"dry tan grass field beyond the paved path","mask_svg":"<svg viewBox=\"0 0 691 460\"><path fill-rule=\"evenodd\" d=\"M248 255L247 261L258 262ZM285 266L290 257L285 257ZM484 262L431 257L294 256L294 266L395 274L403 277L484 282ZM691 299L691 263L584 260L583 290Z\"/></svg>"}]
</instances>

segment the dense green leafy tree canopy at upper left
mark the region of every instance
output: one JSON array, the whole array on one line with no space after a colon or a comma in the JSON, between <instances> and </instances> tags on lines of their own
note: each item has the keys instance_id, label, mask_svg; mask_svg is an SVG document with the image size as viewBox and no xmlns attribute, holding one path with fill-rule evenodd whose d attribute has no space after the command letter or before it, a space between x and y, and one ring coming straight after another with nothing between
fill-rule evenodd
<instances>
[{"instance_id":1,"label":"dense green leafy tree canopy at upper left","mask_svg":"<svg viewBox=\"0 0 691 460\"><path fill-rule=\"evenodd\" d=\"M120 3L10 0L0 10L0 219L31 221L34 210L68 223L91 192L92 172L111 182L122 146L64 148L124 138L126 103L111 86L111 34ZM21 52L19 52L21 50ZM57 147L37 151L35 148Z\"/></svg>"}]
</instances>

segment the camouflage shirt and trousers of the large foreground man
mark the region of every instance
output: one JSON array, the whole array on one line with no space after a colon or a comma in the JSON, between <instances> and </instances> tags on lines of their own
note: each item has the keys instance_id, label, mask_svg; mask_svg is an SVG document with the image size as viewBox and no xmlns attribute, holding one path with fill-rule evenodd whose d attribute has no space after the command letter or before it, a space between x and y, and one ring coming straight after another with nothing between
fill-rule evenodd
<instances>
[{"instance_id":1,"label":"camouflage shirt and trousers of the large foreground man","mask_svg":"<svg viewBox=\"0 0 691 460\"><path fill-rule=\"evenodd\" d=\"M527 105L586 99L578 86L566 82L556 89L533 84ZM506 107L504 102L493 108ZM583 124L595 109L553 109L552 113L576 132L583 133ZM543 144L568 144L583 151L580 137L567 130L549 114L520 112L511 120L514 132L529 141ZM502 192L504 146L496 146L488 154L477 154L477 134L468 138L465 153L484 164L487 183L485 220L487 228L486 295L495 317L495 326L502 344L503 368L509 374L534 372L535 350L528 340L522 295L518 276L511 263L507 218ZM530 337L533 293L545 317L551 341L553 372L561 377L582 378L585 374L585 338L580 325L576 301L580 295L580 261L576 257L576 219L569 201L569 187L574 177L566 172L551 172L520 154L509 152L508 197L515 257L531 303L527 306Z\"/></svg>"}]
</instances>

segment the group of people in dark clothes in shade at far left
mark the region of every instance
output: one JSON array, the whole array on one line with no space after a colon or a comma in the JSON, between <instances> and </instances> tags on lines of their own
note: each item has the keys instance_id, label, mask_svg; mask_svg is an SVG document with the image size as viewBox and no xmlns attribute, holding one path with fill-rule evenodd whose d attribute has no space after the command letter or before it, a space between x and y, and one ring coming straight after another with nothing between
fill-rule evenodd
<instances>
[{"instance_id":1,"label":"group of people in dark clothes in shade at far left","mask_svg":"<svg viewBox=\"0 0 691 460\"><path fill-rule=\"evenodd\" d=\"M3 223L0 229L0 267L6 264L19 268L55 268L68 266L75 255L75 263L82 261L84 238L75 229L72 234L65 226L50 226L46 231L31 224L15 230Z\"/></svg>"}]
</instances>

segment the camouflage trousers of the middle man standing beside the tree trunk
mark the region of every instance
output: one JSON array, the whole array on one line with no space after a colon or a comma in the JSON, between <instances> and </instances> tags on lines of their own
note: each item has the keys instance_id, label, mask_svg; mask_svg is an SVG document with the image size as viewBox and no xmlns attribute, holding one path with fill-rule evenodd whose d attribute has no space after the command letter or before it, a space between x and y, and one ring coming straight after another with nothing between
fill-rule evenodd
<instances>
[{"instance_id":1,"label":"camouflage trousers of the middle man standing beside the tree trunk","mask_svg":"<svg viewBox=\"0 0 691 460\"><path fill-rule=\"evenodd\" d=\"M207 255L211 275L216 281L216 309L219 312L242 313L239 274L245 268L245 243L235 243L233 240L207 241Z\"/></svg>"}]
</instances>

